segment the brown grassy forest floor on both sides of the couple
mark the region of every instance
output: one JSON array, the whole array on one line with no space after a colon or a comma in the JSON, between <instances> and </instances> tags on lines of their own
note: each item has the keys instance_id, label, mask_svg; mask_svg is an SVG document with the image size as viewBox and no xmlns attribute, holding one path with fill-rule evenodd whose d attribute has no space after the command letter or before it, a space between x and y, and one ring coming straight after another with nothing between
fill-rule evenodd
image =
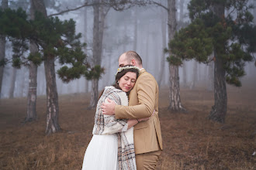
<instances>
[{"instance_id":1,"label":"brown grassy forest floor on both sides of the couple","mask_svg":"<svg viewBox=\"0 0 256 170\"><path fill-rule=\"evenodd\" d=\"M187 113L168 108L168 89L161 90L159 117L164 151L157 170L256 169L256 89L227 88L225 124L209 121L213 92L181 89ZM0 100L1 169L81 169L92 138L95 110L87 110L88 93L59 96L62 131L46 136L46 97L37 98L37 121L22 124L26 98Z\"/></svg>"}]
</instances>

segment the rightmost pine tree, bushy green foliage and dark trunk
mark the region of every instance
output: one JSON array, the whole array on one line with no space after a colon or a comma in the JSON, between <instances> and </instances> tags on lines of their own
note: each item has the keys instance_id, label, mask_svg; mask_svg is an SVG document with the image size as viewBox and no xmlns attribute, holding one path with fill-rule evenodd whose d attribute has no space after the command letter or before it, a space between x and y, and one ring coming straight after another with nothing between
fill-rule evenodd
<instances>
[{"instance_id":1,"label":"rightmost pine tree, bushy green foliage and dark trunk","mask_svg":"<svg viewBox=\"0 0 256 170\"><path fill-rule=\"evenodd\" d=\"M223 123L227 114L226 82L241 86L245 62L256 51L256 27L248 11L248 0L192 0L189 17L192 23L181 29L170 43L172 58L196 59L202 63L214 61L215 104L209 119ZM225 14L225 9L227 13ZM209 55L213 58L209 60Z\"/></svg>"}]
</instances>

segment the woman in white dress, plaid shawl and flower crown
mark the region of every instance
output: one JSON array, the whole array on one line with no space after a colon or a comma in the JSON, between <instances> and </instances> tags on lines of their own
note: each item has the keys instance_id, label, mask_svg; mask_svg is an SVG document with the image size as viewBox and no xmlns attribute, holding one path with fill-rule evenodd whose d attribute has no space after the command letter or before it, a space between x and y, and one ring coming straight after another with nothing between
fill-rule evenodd
<instances>
[{"instance_id":1,"label":"woman in white dress, plaid shawl and flower crown","mask_svg":"<svg viewBox=\"0 0 256 170\"><path fill-rule=\"evenodd\" d=\"M133 145L133 126L140 120L116 120L114 116L103 115L101 104L106 98L116 104L128 105L127 94L132 90L140 70L136 66L126 65L116 72L115 84L105 87L99 98L93 137L85 151L82 170L137 169Z\"/></svg>"}]
</instances>

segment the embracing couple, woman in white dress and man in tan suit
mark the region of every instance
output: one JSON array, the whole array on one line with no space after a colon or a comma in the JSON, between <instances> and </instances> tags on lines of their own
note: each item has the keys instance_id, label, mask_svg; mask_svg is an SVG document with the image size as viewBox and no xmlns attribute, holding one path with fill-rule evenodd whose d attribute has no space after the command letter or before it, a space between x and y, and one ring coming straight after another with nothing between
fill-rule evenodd
<instances>
[{"instance_id":1,"label":"embracing couple, woman in white dress and man in tan suit","mask_svg":"<svg viewBox=\"0 0 256 170\"><path fill-rule=\"evenodd\" d=\"M155 169L163 148L157 82L134 51L119 56L115 76L99 97L82 169Z\"/></svg>"}]
</instances>

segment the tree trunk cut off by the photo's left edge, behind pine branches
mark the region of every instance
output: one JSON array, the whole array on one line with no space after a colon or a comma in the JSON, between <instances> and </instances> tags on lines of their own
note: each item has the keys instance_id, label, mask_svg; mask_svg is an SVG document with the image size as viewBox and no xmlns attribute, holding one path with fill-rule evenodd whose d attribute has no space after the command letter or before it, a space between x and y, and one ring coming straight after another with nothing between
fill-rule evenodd
<instances>
[{"instance_id":1,"label":"tree trunk cut off by the photo's left edge, behind pine branches","mask_svg":"<svg viewBox=\"0 0 256 170\"><path fill-rule=\"evenodd\" d=\"M1 8L8 8L8 0L2 0ZM0 61L5 59L5 36L0 36ZM1 99L1 92L2 92L2 78L4 75L4 67L0 66L0 99Z\"/></svg>"}]
</instances>

